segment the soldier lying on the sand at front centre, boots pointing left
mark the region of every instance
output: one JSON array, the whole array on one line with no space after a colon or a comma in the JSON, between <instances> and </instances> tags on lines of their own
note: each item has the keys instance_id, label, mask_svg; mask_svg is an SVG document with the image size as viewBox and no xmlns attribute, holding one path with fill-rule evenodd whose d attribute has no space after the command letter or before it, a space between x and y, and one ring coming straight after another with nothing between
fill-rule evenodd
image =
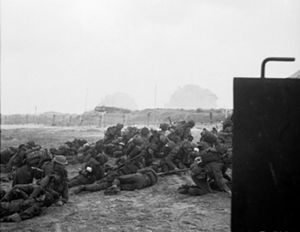
<instances>
[{"instance_id":1,"label":"soldier lying on the sand at front centre, boots pointing left","mask_svg":"<svg viewBox=\"0 0 300 232\"><path fill-rule=\"evenodd\" d=\"M150 187L157 183L158 176L151 168L143 168L137 173L119 176L114 179L111 187L104 191L106 195L117 194L120 190L133 191Z\"/></svg>"}]
</instances>

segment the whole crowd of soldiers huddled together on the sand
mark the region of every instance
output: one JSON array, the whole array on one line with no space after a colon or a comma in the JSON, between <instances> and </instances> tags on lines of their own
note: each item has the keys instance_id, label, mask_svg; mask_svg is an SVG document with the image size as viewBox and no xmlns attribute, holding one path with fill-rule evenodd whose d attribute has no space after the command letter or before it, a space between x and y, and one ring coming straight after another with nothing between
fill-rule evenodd
<instances>
[{"instance_id":1,"label":"whole crowd of soldiers huddled together on the sand","mask_svg":"<svg viewBox=\"0 0 300 232\"><path fill-rule=\"evenodd\" d=\"M226 123L225 123L226 122ZM203 195L224 191L231 195L232 121L218 131L203 129L194 142L193 120L147 127L109 127L95 143L83 139L58 149L42 149L30 141L1 152L1 165L12 173L12 188L1 189L0 221L20 221L39 215L44 207L63 205L73 194L104 190L118 194L152 186L159 176L189 172L193 185L182 185L181 194ZM78 175L68 178L68 157L82 162ZM73 159L72 159L73 160Z\"/></svg>"}]
</instances>

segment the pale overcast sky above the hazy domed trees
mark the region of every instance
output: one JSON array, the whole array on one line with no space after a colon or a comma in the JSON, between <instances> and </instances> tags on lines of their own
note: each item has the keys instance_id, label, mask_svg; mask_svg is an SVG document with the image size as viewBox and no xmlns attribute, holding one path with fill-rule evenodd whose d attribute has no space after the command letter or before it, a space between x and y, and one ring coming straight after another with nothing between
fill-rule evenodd
<instances>
[{"instance_id":1,"label":"pale overcast sky above the hazy domed trees","mask_svg":"<svg viewBox=\"0 0 300 232\"><path fill-rule=\"evenodd\" d=\"M233 104L233 77L300 69L299 0L2 0L1 113L94 109L128 93L163 107L186 84Z\"/></svg>"}]
</instances>

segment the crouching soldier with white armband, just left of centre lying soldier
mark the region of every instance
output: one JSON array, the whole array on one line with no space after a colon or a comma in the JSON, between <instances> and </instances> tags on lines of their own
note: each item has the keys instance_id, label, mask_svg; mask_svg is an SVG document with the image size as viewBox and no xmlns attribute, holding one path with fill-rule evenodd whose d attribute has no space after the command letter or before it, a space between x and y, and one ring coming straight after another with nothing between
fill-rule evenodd
<instances>
[{"instance_id":1,"label":"crouching soldier with white armband, just left of centre lying soldier","mask_svg":"<svg viewBox=\"0 0 300 232\"><path fill-rule=\"evenodd\" d=\"M105 168L104 164L108 161L105 154L99 154L95 158L91 157L89 161L84 165L84 168L79 172L79 175L75 176L68 183L69 188L92 184L96 180L100 180L104 177Z\"/></svg>"}]
</instances>

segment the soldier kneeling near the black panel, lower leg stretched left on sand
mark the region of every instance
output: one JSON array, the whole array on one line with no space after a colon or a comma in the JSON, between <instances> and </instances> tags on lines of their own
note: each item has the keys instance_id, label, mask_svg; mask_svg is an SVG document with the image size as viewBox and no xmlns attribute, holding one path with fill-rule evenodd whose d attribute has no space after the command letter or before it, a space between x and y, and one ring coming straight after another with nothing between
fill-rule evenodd
<instances>
[{"instance_id":1,"label":"soldier kneeling near the black panel, lower leg stretched left on sand","mask_svg":"<svg viewBox=\"0 0 300 232\"><path fill-rule=\"evenodd\" d=\"M192 180L196 185L182 185L179 187L178 192L194 196L211 193L212 191L208 183L208 170L200 156L195 158L190 170Z\"/></svg>"}]
</instances>

